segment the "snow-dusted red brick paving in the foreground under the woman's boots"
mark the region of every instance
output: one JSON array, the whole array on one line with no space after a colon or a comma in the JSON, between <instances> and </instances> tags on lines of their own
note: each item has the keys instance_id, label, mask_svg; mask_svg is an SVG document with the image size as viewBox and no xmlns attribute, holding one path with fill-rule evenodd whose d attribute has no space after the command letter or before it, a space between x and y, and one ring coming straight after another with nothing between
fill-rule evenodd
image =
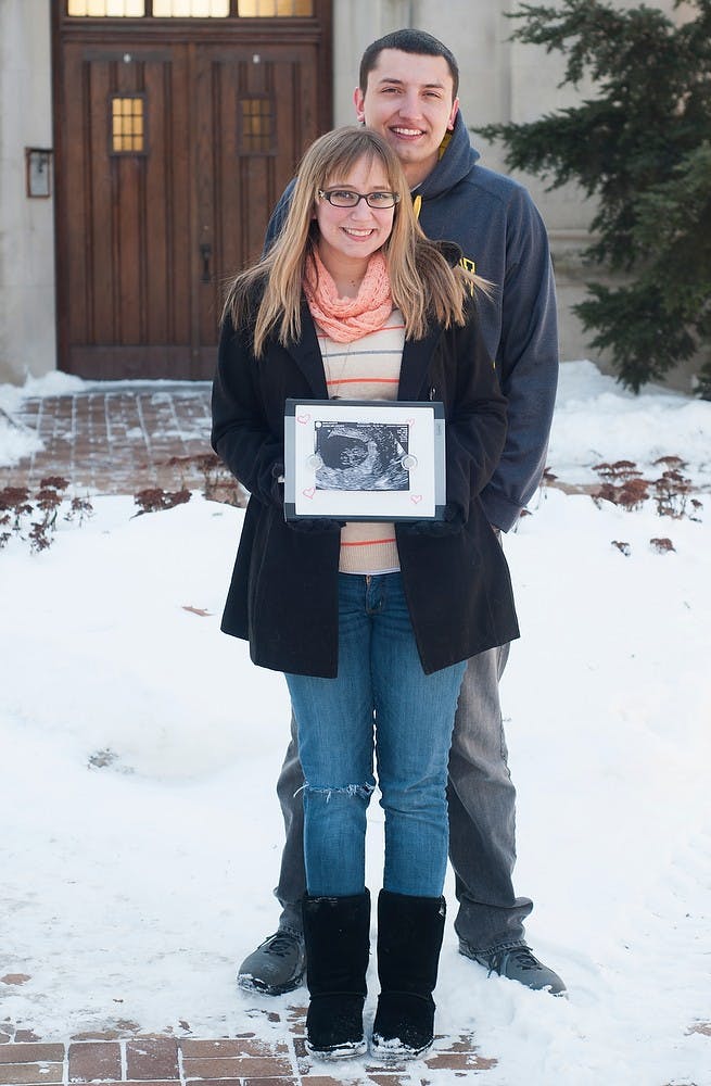
<instances>
[{"instance_id":1,"label":"snow-dusted red brick paving in the foreground under the woman's boots","mask_svg":"<svg viewBox=\"0 0 711 1086\"><path fill-rule=\"evenodd\" d=\"M268 1020L268 1032L278 1039L265 1040L256 1033L213 1040L114 1033L43 1044L27 1032L18 1031L14 1036L0 1033L0 1084L301 1086L303 1082L310 1086L335 1086L346 1081L338 1077L333 1064L313 1062L306 1055L303 1007L290 1007L285 1015L259 1008L255 1010L255 1016L258 1015ZM373 1065L367 1061L345 1064L347 1082L353 1086L369 1083L421 1086L435 1084L452 1072L469 1077L496 1064L496 1060L477 1053L471 1037L435 1044L444 1047L410 1064L409 1071L405 1065Z\"/></svg>"}]
</instances>

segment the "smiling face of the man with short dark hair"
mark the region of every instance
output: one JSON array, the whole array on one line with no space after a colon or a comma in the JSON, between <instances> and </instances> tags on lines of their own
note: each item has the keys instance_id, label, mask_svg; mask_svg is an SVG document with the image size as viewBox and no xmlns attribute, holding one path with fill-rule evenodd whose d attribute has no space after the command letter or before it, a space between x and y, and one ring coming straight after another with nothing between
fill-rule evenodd
<instances>
[{"instance_id":1,"label":"smiling face of the man with short dark hair","mask_svg":"<svg viewBox=\"0 0 711 1086\"><path fill-rule=\"evenodd\" d=\"M354 94L358 121L384 136L403 164L408 185L434 168L440 143L454 127L459 99L444 56L383 49L365 94Z\"/></svg>"}]
</instances>

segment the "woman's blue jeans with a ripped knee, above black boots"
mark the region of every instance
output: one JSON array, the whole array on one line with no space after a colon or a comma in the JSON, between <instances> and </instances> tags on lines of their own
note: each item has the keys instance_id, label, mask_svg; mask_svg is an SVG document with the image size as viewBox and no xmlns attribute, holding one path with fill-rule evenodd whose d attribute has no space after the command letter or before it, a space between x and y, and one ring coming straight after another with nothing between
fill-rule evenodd
<instances>
[{"instance_id":1,"label":"woman's blue jeans with a ripped knee, above black boots","mask_svg":"<svg viewBox=\"0 0 711 1086\"><path fill-rule=\"evenodd\" d=\"M465 668L462 661L424 674L399 573L339 574L338 677L287 675L305 779L310 895L365 889L373 748L385 811L383 887L442 894L447 763Z\"/></svg>"}]
</instances>

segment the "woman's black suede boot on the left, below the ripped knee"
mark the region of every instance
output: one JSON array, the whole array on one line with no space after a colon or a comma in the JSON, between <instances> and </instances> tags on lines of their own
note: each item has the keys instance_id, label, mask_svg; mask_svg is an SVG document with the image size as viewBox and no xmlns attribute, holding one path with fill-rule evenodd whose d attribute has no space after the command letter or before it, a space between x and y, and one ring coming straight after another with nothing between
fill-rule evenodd
<instances>
[{"instance_id":1,"label":"woman's black suede boot on the left, below the ripped knee","mask_svg":"<svg viewBox=\"0 0 711 1086\"><path fill-rule=\"evenodd\" d=\"M363 1056L363 1005L370 949L370 894L309 897L306 943L306 1049L323 1060Z\"/></svg>"}]
</instances>

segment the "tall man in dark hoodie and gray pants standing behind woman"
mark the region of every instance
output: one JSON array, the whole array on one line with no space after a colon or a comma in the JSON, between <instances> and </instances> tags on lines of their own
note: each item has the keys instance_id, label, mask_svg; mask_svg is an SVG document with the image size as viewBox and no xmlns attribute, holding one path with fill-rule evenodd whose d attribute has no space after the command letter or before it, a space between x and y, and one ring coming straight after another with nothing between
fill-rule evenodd
<instances>
[{"instance_id":1,"label":"tall man in dark hoodie and gray pants standing behind woman","mask_svg":"<svg viewBox=\"0 0 711 1086\"><path fill-rule=\"evenodd\" d=\"M420 224L436 239L456 242L468 266L493 285L480 296L484 338L508 400L508 437L482 494L498 531L512 528L535 492L550 430L558 372L556 298L544 225L525 189L480 166L457 99L458 68L449 50L422 30L389 34L366 49L354 100L359 122L397 152ZM291 187L267 230L278 231ZM467 667L449 758L449 857L456 874L459 951L531 988L566 990L536 959L523 920L533 904L516 897L516 791L508 771L498 681L508 646ZM279 931L240 968L242 987L277 995L296 987L305 961L301 898L303 774L295 728L279 783L287 843L276 895Z\"/></svg>"}]
</instances>

